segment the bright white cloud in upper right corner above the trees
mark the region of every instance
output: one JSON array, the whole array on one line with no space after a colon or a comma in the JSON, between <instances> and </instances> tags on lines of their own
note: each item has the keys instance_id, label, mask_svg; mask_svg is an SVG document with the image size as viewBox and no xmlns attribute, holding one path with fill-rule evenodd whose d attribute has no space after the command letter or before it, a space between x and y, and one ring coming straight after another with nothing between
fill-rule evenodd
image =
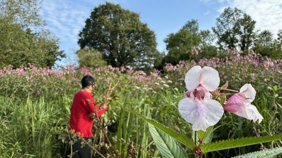
<instances>
[{"instance_id":1,"label":"bright white cloud in upper right corner above the trees","mask_svg":"<svg viewBox=\"0 0 282 158\"><path fill-rule=\"evenodd\" d=\"M237 7L245 11L256 21L256 30L270 30L276 37L279 29L282 29L282 1L281 0L218 0L222 7L220 13L226 7Z\"/></svg>"}]
</instances>

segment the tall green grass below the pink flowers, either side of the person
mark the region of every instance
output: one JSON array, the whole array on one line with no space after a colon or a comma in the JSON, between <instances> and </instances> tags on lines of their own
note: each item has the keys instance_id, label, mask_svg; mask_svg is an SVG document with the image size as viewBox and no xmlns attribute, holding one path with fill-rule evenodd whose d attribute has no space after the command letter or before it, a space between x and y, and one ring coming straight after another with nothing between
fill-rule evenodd
<instances>
[{"instance_id":1,"label":"tall green grass below the pink flowers, either side of the person","mask_svg":"<svg viewBox=\"0 0 282 158\"><path fill-rule=\"evenodd\" d=\"M119 93L117 93L119 92ZM271 91L270 91L271 92ZM162 93L147 95L140 89L132 91L116 90L116 98L111 102L112 110L104 118L119 121L120 109L129 108L160 123L191 135L191 126L178 114L177 103L182 97L179 90L167 88ZM13 98L0 98L0 157L65 157L69 154L70 146L62 142L61 132L68 126L69 109L72 96L62 94L56 100L41 97L36 100L28 97L16 102ZM267 136L281 133L282 108L273 109L273 95L257 95L254 105L264 117L261 124L253 123L236 115L225 113L217 125L224 124L215 131L214 141L229 138ZM277 98L276 99L280 99ZM276 100L277 101L277 100ZM148 132L148 124L143 120L123 112L122 155L126 156L128 144L134 142L138 157L158 157L152 138ZM117 125L110 126L109 136L115 136ZM61 137L61 139L59 139ZM98 142L97 142L98 143ZM281 146L282 142L272 142L262 145L249 146L213 152L206 157L238 155L256 151L261 147L271 148ZM106 151L107 152L107 151Z\"/></svg>"}]
</instances>

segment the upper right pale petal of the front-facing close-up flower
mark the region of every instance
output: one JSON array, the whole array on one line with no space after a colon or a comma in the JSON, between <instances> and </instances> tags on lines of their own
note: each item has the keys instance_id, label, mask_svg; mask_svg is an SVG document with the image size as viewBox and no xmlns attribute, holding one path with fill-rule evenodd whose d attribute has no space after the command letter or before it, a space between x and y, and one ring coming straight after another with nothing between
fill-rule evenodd
<instances>
[{"instance_id":1,"label":"upper right pale petal of the front-facing close-up flower","mask_svg":"<svg viewBox=\"0 0 282 158\"><path fill-rule=\"evenodd\" d=\"M212 67L205 66L202 68L200 84L208 91L215 91L219 86L218 71Z\"/></svg>"}]
</instances>

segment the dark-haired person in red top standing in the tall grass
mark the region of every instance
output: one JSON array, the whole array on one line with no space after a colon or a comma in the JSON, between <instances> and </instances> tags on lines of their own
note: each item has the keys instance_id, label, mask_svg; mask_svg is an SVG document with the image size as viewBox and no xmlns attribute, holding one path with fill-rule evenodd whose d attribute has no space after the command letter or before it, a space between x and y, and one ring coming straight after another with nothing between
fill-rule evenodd
<instances>
[{"instance_id":1,"label":"dark-haired person in red top standing in the tall grass","mask_svg":"<svg viewBox=\"0 0 282 158\"><path fill-rule=\"evenodd\" d=\"M92 96L95 80L90 75L85 75L82 80L82 90L74 96L72 109L69 119L69 130L74 130L77 140L74 143L74 149L78 150L77 157L90 157L92 147L92 125L93 119L89 116L94 113L96 117L101 117L106 107L99 108L96 100ZM84 140L83 140L84 139ZM82 142L88 144L82 146Z\"/></svg>"}]
</instances>

